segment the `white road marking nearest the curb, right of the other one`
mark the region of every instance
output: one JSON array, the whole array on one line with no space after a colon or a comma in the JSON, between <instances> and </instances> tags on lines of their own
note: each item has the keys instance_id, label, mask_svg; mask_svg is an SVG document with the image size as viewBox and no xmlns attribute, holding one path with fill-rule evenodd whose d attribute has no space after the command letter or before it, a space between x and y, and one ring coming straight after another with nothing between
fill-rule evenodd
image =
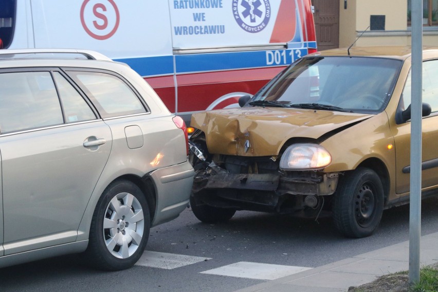
<instances>
[{"instance_id":1,"label":"white road marking nearest the curb, right of the other one","mask_svg":"<svg viewBox=\"0 0 438 292\"><path fill-rule=\"evenodd\" d=\"M275 280L309 269L311 268L239 262L200 273L258 280Z\"/></svg>"}]
</instances>

